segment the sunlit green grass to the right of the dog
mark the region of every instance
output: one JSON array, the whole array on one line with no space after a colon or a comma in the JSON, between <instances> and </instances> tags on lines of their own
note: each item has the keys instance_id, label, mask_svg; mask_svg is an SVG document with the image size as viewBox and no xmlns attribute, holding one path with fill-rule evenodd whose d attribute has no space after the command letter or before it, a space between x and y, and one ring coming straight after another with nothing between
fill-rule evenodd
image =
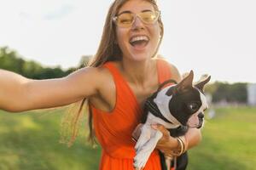
<instances>
[{"instance_id":1,"label":"sunlit green grass to the right of the dog","mask_svg":"<svg viewBox=\"0 0 256 170\"><path fill-rule=\"evenodd\" d=\"M256 108L220 108L203 127L203 140L189 151L196 170L256 169Z\"/></svg>"}]
</instances>

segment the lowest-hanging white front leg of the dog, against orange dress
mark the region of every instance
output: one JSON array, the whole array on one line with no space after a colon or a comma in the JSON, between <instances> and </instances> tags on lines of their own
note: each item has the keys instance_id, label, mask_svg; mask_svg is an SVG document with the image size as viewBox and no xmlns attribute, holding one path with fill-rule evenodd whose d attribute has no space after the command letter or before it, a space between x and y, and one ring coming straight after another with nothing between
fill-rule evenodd
<instances>
[{"instance_id":1,"label":"lowest-hanging white front leg of the dog, against orange dress","mask_svg":"<svg viewBox=\"0 0 256 170\"><path fill-rule=\"evenodd\" d=\"M163 133L161 133L158 130L153 130L152 128L151 128L151 133L153 133L152 138L149 139L148 142L143 145L141 150L137 151L137 155L134 158L134 167L137 167L137 168L145 167L148 161L148 157L154 150L159 139L163 136Z\"/></svg>"}]
</instances>

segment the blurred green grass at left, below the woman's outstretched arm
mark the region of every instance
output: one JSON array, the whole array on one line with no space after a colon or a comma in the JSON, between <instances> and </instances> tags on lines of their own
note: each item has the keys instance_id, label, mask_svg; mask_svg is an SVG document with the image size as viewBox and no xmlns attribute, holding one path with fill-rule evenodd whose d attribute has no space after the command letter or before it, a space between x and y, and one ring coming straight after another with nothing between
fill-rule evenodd
<instances>
[{"instance_id":1,"label":"blurred green grass at left, below the woman's outstretched arm","mask_svg":"<svg viewBox=\"0 0 256 170\"><path fill-rule=\"evenodd\" d=\"M81 141L60 144L62 110L0 112L1 170L98 169L99 147Z\"/></svg>"}]
</instances>

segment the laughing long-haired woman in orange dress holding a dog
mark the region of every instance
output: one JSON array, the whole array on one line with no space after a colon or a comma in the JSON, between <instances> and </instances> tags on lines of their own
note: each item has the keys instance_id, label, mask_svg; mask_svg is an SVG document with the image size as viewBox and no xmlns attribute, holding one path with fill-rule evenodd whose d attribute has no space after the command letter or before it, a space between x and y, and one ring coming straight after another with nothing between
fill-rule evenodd
<instances>
[{"instance_id":1,"label":"laughing long-haired woman in orange dress holding a dog","mask_svg":"<svg viewBox=\"0 0 256 170\"><path fill-rule=\"evenodd\" d=\"M48 80L2 70L0 109L28 111L87 99L96 139L102 146L100 169L131 170L135 156L131 135L140 122L145 99L160 82L181 79L174 65L157 58L163 34L155 0L115 0L89 67ZM157 149L166 155L180 149L164 127L156 128L164 133ZM200 142L201 132L189 129L185 139L189 149ZM160 170L158 151L152 153L144 169Z\"/></svg>"}]
</instances>

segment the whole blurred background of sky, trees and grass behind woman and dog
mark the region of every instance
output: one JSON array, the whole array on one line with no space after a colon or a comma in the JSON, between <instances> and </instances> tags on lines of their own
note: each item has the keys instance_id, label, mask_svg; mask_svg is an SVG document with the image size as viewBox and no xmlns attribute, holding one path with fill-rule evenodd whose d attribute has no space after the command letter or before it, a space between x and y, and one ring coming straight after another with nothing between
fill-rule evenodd
<instances>
[{"instance_id":1,"label":"whole blurred background of sky, trees and grass behind woman and dog","mask_svg":"<svg viewBox=\"0 0 256 170\"><path fill-rule=\"evenodd\" d=\"M0 0L0 68L34 79L65 77L96 53L112 0ZM101 3L101 5L99 5ZM160 54L195 82L212 76L200 145L189 170L256 169L256 2L159 0ZM100 147L60 144L66 108L0 111L0 169L97 169ZM84 125L84 129L86 129Z\"/></svg>"}]
</instances>

